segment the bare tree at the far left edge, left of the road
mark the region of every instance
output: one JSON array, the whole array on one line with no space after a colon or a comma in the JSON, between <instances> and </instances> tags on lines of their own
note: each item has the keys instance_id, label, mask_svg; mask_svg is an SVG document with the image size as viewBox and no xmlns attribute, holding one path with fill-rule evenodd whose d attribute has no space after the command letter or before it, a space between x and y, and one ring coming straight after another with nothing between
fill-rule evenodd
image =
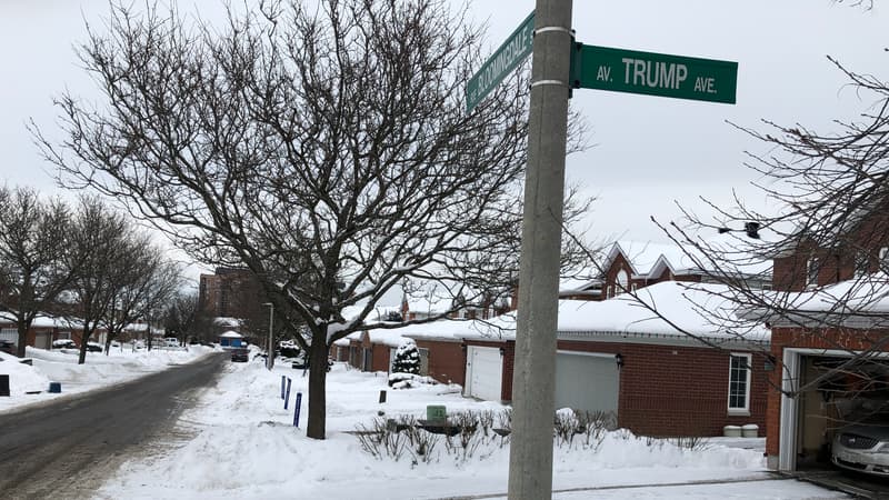
<instances>
[{"instance_id":1,"label":"bare tree at the far left edge, left of the road","mask_svg":"<svg viewBox=\"0 0 889 500\"><path fill-rule=\"evenodd\" d=\"M70 232L61 201L41 200L27 188L0 188L0 310L16 321L19 357L34 318L52 312L77 269L68 259Z\"/></svg>"}]
</instances>

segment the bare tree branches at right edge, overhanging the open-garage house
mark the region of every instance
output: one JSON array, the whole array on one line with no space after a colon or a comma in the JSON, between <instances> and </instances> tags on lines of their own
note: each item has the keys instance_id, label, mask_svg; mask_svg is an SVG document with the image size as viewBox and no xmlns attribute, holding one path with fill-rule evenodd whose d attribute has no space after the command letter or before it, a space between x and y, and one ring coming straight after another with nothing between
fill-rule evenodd
<instances>
[{"instance_id":1,"label":"bare tree branches at right edge, overhanging the open-garage house","mask_svg":"<svg viewBox=\"0 0 889 500\"><path fill-rule=\"evenodd\" d=\"M738 127L769 148L767 156L748 153L748 167L780 207L777 213L742 200L728 208L711 203L712 219L687 213L695 231L677 224L665 230L712 270L715 281L731 287L727 298L740 317L727 322L767 322L773 332L780 328L800 342L842 352L790 389L781 377L772 380L786 397L818 391L831 408L845 404L828 416L835 419L830 427L838 427L849 416L861 417L850 411L856 400L877 398L876 410L889 410L889 367L881 359L889 350L889 83L828 59L869 102L858 119L835 121L831 132L772 121L763 121L767 131ZM712 244L695 236L701 230L736 232L739 239L732 248ZM751 260L773 262L772 291L731 272ZM782 367L780 352L772 354Z\"/></svg>"}]
</instances>

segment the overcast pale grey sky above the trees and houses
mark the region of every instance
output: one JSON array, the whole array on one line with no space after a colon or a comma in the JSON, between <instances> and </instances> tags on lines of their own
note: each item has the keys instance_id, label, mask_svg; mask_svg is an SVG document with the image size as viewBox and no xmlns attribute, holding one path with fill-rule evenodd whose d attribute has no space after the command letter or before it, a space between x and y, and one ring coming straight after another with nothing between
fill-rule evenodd
<instances>
[{"instance_id":1,"label":"overcast pale grey sky above the trees and houses","mask_svg":"<svg viewBox=\"0 0 889 500\"><path fill-rule=\"evenodd\" d=\"M138 3L138 2L137 2ZM458 3L458 2L455 2ZM532 0L475 0L470 11L487 22L498 46L533 9ZM217 0L182 1L219 16ZM843 89L827 54L851 69L889 79L889 17L829 0L578 0L577 40L597 46L725 59L739 63L735 106L621 94L575 92L596 147L569 159L568 176L599 197L588 220L591 236L662 241L651 214L678 214L673 200L700 210L698 196L728 202L732 189L753 203L762 196L743 151L765 146L726 124L758 127L760 118L800 122L822 131L871 102ZM72 47L86 36L84 19L100 24L107 0L0 0L0 172L9 184L54 191L24 123L32 117L52 134L52 96L69 88L94 93Z\"/></svg>"}]
</instances>

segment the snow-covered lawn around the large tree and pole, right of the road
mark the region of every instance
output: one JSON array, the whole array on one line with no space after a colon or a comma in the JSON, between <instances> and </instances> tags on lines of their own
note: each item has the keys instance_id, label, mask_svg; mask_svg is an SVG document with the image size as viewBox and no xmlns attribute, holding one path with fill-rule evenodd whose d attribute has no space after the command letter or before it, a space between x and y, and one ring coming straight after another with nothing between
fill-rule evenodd
<instances>
[{"instance_id":1,"label":"snow-covered lawn around the large tree and pole, right of the road","mask_svg":"<svg viewBox=\"0 0 889 500\"><path fill-rule=\"evenodd\" d=\"M280 398L281 376L292 379L290 406ZM99 498L151 499L434 499L500 498L507 490L509 449L497 439L467 461L443 453L431 463L378 460L362 450L354 431L386 417L424 418L427 404L459 410L502 410L492 402L460 397L459 388L422 386L390 390L383 374L334 366L328 377L328 439L304 436L307 378L279 363L272 372L258 360L228 364L201 404L182 416L193 439L150 458L122 464ZM379 403L380 390L387 402ZM303 393L300 429L292 427L296 393ZM731 447L723 444L731 444ZM738 448L738 446L748 449ZM762 439L721 441L688 450L670 442L606 433L597 447L557 447L555 489L559 499L585 498L845 498L765 470ZM701 483L702 481L746 482ZM698 482L688 486L660 486ZM638 486L638 488L626 488ZM600 488L590 490L591 488ZM488 497L491 496L491 497Z\"/></svg>"}]
</instances>

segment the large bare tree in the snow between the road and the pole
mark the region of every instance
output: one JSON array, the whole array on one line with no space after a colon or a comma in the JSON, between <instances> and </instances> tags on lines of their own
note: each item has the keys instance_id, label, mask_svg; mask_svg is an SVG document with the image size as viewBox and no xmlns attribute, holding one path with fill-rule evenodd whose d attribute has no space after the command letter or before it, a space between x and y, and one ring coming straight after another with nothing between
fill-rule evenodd
<instances>
[{"instance_id":1,"label":"large bare tree in the snow between the road and the pole","mask_svg":"<svg viewBox=\"0 0 889 500\"><path fill-rule=\"evenodd\" d=\"M392 287L473 301L515 276L527 87L466 112L480 32L442 0L261 6L212 28L117 8L79 51L104 102L64 96L67 139L37 136L67 186L127 200L202 262L246 266L279 319L308 326L307 433L322 439L328 349L378 326Z\"/></svg>"}]
</instances>

